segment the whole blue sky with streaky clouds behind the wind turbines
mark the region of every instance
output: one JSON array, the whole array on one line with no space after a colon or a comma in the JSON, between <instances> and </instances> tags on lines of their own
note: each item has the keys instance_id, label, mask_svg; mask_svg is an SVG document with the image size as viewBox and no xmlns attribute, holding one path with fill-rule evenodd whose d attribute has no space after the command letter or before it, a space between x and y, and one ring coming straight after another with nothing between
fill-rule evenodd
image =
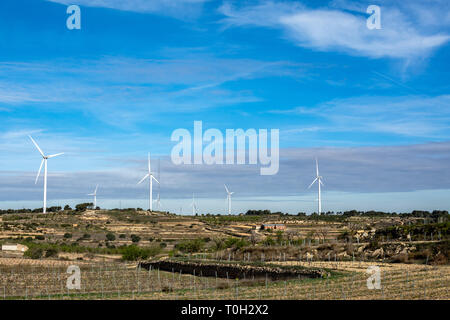
<instances>
[{"instance_id":1,"label":"whole blue sky with streaky clouds behind the wind turbines","mask_svg":"<svg viewBox=\"0 0 450 320\"><path fill-rule=\"evenodd\" d=\"M81 30L66 28L69 4ZM39 205L32 134L45 152L66 153L49 161L50 203L97 183L99 204L145 200L136 182L150 151L171 210L195 192L218 199L203 210L221 212L227 183L242 210L310 212L316 156L325 210L366 209L371 193L383 199L374 209L408 210L398 197L408 192L417 207L448 209L450 197L430 196L450 189L448 1L370 4L380 30L366 27L359 1L2 1L0 206ZM278 175L174 166L170 135L194 120L280 129ZM345 194L327 204L327 192Z\"/></svg>"}]
</instances>

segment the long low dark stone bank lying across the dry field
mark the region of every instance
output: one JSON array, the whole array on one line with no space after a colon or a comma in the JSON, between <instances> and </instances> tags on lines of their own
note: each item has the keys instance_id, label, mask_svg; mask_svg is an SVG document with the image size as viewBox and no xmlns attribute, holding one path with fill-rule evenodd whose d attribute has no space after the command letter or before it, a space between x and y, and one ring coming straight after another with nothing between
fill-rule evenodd
<instances>
[{"instance_id":1,"label":"long low dark stone bank lying across the dry field","mask_svg":"<svg viewBox=\"0 0 450 320\"><path fill-rule=\"evenodd\" d=\"M159 269L163 271L182 272L188 274L202 275L206 277L220 278L265 278L266 275L272 280L289 279L289 278L321 278L326 272L321 269L295 269L295 268L278 268L278 267L257 267L257 266L241 266L220 263L200 263L185 261L149 261L141 262L140 267L145 269Z\"/></svg>"}]
</instances>

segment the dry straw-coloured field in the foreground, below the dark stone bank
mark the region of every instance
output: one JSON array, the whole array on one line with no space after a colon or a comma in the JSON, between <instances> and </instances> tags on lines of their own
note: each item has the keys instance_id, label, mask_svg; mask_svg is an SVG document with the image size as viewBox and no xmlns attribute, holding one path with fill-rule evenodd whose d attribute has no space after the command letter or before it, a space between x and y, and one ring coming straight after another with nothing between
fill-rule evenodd
<instances>
[{"instance_id":1,"label":"dry straw-coloured field in the foreground, below the dark stone bank","mask_svg":"<svg viewBox=\"0 0 450 320\"><path fill-rule=\"evenodd\" d=\"M2 261L3 263L3 261ZM326 264L326 263L325 263ZM323 266L320 263L316 265ZM68 290L68 264L3 265L1 299L449 299L448 266L381 266L381 289L367 288L365 268L341 263L324 279L224 279L144 270L135 264L80 264L81 289ZM334 268L334 265L326 267Z\"/></svg>"}]
</instances>

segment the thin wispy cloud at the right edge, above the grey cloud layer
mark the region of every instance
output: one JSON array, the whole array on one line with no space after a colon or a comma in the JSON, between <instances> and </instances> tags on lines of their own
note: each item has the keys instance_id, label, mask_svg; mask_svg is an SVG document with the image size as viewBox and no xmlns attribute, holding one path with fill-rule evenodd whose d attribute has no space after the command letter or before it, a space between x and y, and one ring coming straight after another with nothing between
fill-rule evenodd
<instances>
[{"instance_id":1,"label":"thin wispy cloud at the right edge, above the grey cloud layer","mask_svg":"<svg viewBox=\"0 0 450 320\"><path fill-rule=\"evenodd\" d=\"M316 131L376 132L442 141L450 138L449 105L449 95L376 96L334 99L314 107L270 112L315 117L321 124L319 127L310 124L306 130L291 128L287 131L291 134L314 128Z\"/></svg>"}]
</instances>

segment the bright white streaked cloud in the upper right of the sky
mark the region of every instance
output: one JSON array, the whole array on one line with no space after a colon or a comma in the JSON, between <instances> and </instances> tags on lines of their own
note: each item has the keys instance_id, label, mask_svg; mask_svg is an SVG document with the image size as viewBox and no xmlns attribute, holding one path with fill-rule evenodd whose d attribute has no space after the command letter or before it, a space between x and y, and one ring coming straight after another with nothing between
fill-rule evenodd
<instances>
[{"instance_id":1,"label":"bright white streaked cloud in the upper right of the sky","mask_svg":"<svg viewBox=\"0 0 450 320\"><path fill-rule=\"evenodd\" d=\"M318 51L341 51L370 58L414 59L426 57L447 43L446 32L425 30L411 16L393 6L382 6L381 30L366 27L368 17L338 9L309 9L296 2L261 2L255 6L234 8L225 3L220 12L226 27L260 26L281 29L296 45ZM422 8L423 15L425 15ZM428 16L436 11L427 11Z\"/></svg>"}]
</instances>

